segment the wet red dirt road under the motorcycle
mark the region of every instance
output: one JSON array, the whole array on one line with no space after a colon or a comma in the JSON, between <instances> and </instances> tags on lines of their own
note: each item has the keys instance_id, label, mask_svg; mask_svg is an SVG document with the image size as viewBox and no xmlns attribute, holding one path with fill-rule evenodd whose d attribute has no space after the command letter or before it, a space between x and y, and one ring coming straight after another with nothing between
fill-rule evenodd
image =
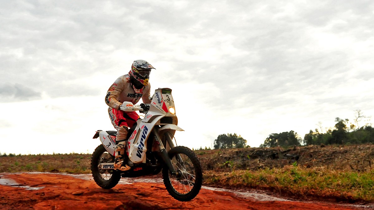
<instances>
[{"instance_id":1,"label":"wet red dirt road under the motorcycle","mask_svg":"<svg viewBox=\"0 0 374 210\"><path fill-rule=\"evenodd\" d=\"M118 184L113 189L101 189L95 182L52 173L0 174L18 187L0 185L0 209L364 209L334 203L299 201L256 201L232 192L201 189L192 201L172 198L161 183ZM40 188L30 190L28 187Z\"/></svg>"}]
</instances>

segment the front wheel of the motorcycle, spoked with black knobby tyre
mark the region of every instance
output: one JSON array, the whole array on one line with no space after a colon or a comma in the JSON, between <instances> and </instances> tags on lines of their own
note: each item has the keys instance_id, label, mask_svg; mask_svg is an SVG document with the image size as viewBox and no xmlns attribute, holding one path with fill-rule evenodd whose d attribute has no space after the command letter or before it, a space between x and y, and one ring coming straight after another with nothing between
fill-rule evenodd
<instances>
[{"instance_id":1,"label":"front wheel of the motorcycle, spoked with black knobby tyre","mask_svg":"<svg viewBox=\"0 0 374 210\"><path fill-rule=\"evenodd\" d=\"M177 175L171 175L168 167L162 170L163 181L169 194L178 201L190 201L199 193L202 185L202 169L199 158L187 147L174 147L169 157Z\"/></svg>"}]
</instances>

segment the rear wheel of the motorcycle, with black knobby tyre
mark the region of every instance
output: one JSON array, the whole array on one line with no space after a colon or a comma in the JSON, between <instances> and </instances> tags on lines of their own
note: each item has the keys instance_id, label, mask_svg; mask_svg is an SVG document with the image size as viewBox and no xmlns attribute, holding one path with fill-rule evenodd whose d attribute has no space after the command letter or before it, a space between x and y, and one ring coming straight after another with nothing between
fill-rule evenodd
<instances>
[{"instance_id":1,"label":"rear wheel of the motorcycle, with black knobby tyre","mask_svg":"<svg viewBox=\"0 0 374 210\"><path fill-rule=\"evenodd\" d=\"M99 169L100 163L114 163L113 155L109 154L102 144L96 147L92 154L91 172L97 185L104 189L111 189L118 184L121 175L113 169Z\"/></svg>"}]
</instances>

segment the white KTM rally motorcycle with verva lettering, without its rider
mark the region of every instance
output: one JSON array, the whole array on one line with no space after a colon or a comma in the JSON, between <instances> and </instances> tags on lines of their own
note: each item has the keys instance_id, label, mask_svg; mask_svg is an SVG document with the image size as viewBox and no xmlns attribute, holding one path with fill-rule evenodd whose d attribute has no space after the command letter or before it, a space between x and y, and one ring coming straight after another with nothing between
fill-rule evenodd
<instances>
[{"instance_id":1,"label":"white KTM rally motorcycle with verva lettering, without its rider","mask_svg":"<svg viewBox=\"0 0 374 210\"><path fill-rule=\"evenodd\" d=\"M196 154L187 147L176 146L177 126L171 89L159 88L150 104L133 105L125 102L120 107L125 112L144 113L129 129L126 140L128 171L114 170L115 137L117 131L96 131L93 138L101 143L93 152L91 171L93 180L101 188L110 189L121 177L156 175L161 171L169 194L178 201L190 201L199 193L202 185L202 167Z\"/></svg>"}]
</instances>

